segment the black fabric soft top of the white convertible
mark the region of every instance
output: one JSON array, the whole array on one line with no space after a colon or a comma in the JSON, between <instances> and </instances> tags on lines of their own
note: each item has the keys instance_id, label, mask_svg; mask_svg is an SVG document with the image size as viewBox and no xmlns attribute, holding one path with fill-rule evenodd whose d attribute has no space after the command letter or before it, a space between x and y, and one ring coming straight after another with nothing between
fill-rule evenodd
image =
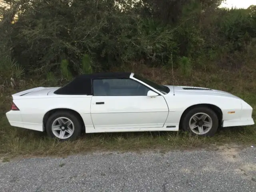
<instances>
[{"instance_id":1,"label":"black fabric soft top of the white convertible","mask_svg":"<svg viewBox=\"0 0 256 192\"><path fill-rule=\"evenodd\" d=\"M59 88L54 94L60 95L92 95L92 79L106 78L129 78L131 73L112 72L112 73L92 73L82 74L74 78L65 86Z\"/></svg>"}]
</instances>

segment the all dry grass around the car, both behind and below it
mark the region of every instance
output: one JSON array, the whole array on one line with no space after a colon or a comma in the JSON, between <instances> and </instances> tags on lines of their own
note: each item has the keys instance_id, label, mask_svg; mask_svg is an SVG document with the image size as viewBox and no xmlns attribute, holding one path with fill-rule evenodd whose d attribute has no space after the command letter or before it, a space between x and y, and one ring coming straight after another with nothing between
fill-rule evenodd
<instances>
[{"instance_id":1,"label":"all dry grass around the car, both behind and below it","mask_svg":"<svg viewBox=\"0 0 256 192\"><path fill-rule=\"evenodd\" d=\"M116 69L113 69L116 70ZM126 68L124 70L130 70ZM213 70L215 70L213 72ZM172 84L172 72L169 68L146 68L143 65L132 66L132 71L162 84ZM23 88L45 86L48 82L28 82ZM192 75L184 78L175 71L175 84L202 86L231 92L248 102L256 109L256 66L244 66L235 71L202 68L193 70ZM81 152L104 150L169 150L208 148L227 143L245 145L256 144L256 126L222 128L212 138L191 136L186 132L127 132L84 134L73 142L58 142L46 136L46 133L11 127L4 112L10 108L10 95L18 90L8 86L0 92L0 154L4 156L63 156ZM256 113L253 117L255 119Z\"/></svg>"}]
</instances>

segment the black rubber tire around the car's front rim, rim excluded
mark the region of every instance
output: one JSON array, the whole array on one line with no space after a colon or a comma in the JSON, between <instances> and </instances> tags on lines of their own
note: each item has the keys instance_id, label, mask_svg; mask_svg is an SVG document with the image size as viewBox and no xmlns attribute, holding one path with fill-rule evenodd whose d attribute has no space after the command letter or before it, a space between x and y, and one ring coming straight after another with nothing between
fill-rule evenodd
<instances>
[{"instance_id":1,"label":"black rubber tire around the car's front rim, rim excluded","mask_svg":"<svg viewBox=\"0 0 256 192\"><path fill-rule=\"evenodd\" d=\"M206 132L206 134L196 134L196 133L192 132L192 130L189 127L190 118L192 118L192 116L194 116L197 113L205 113L208 116L210 116L210 118L212 119L212 128L208 132ZM191 110L186 112L186 114L184 114L182 121L181 121L182 130L188 131L188 132L192 133L193 135L198 135L198 136L214 136L214 134L216 133L216 131L218 129L218 126L219 126L218 116L212 109L210 109L208 107L192 108Z\"/></svg>"}]
</instances>

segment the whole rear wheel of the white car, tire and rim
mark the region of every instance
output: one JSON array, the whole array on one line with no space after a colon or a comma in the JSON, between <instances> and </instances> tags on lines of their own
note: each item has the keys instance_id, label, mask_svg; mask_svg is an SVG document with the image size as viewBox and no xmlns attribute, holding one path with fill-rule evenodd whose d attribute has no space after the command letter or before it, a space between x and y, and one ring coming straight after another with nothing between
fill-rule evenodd
<instances>
[{"instance_id":1,"label":"whole rear wheel of the white car, tire and rim","mask_svg":"<svg viewBox=\"0 0 256 192\"><path fill-rule=\"evenodd\" d=\"M82 124L72 112L58 111L46 122L46 132L50 137L59 140L75 140L81 135Z\"/></svg>"}]
</instances>

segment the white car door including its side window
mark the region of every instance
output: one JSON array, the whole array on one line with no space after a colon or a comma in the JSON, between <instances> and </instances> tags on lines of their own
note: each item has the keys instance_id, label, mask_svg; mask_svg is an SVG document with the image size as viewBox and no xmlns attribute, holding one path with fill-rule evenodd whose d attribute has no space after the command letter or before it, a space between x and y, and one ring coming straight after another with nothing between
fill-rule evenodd
<instances>
[{"instance_id":1,"label":"white car door including its side window","mask_svg":"<svg viewBox=\"0 0 256 192\"><path fill-rule=\"evenodd\" d=\"M163 96L129 78L94 79L91 117L95 129L163 127L168 106Z\"/></svg>"}]
</instances>

